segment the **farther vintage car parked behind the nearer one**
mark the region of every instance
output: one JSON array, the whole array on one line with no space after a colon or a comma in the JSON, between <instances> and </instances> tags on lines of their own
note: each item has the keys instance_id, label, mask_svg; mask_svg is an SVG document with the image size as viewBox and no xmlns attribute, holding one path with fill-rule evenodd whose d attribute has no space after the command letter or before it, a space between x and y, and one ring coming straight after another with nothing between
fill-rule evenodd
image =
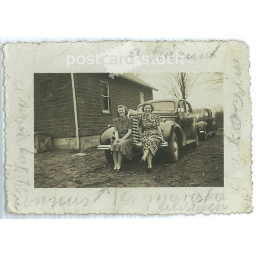
<instances>
[{"instance_id":1,"label":"farther vintage car parked behind the nearer one","mask_svg":"<svg viewBox=\"0 0 256 256\"><path fill-rule=\"evenodd\" d=\"M215 136L217 125L210 109L193 109L193 116L199 126L201 140L207 140L208 135Z\"/></svg>"}]
</instances>

